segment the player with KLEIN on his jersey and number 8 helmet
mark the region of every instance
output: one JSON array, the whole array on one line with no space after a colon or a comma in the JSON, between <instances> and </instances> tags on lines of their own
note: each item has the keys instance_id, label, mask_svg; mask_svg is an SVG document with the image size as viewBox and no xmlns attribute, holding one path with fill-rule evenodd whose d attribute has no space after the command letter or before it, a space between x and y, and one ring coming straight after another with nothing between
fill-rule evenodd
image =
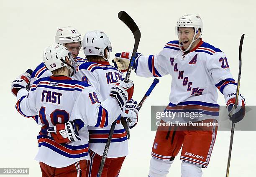
<instances>
[{"instance_id":1,"label":"player with KLEIN on his jersey and number 8 helmet","mask_svg":"<svg viewBox=\"0 0 256 177\"><path fill-rule=\"evenodd\" d=\"M88 62L77 67L74 79L87 81L100 93L102 100L105 100L111 88L124 78L123 73L110 66L108 62L112 50L110 40L102 31L90 31L84 35L83 49ZM125 105L126 113L123 113L123 116L131 119L130 128L137 123L137 108L136 101L130 100ZM87 166L87 177L97 176L110 127L111 124L104 128L88 126L91 161ZM102 177L118 176L126 155L128 155L128 140L119 120L115 126Z\"/></svg>"}]
</instances>

